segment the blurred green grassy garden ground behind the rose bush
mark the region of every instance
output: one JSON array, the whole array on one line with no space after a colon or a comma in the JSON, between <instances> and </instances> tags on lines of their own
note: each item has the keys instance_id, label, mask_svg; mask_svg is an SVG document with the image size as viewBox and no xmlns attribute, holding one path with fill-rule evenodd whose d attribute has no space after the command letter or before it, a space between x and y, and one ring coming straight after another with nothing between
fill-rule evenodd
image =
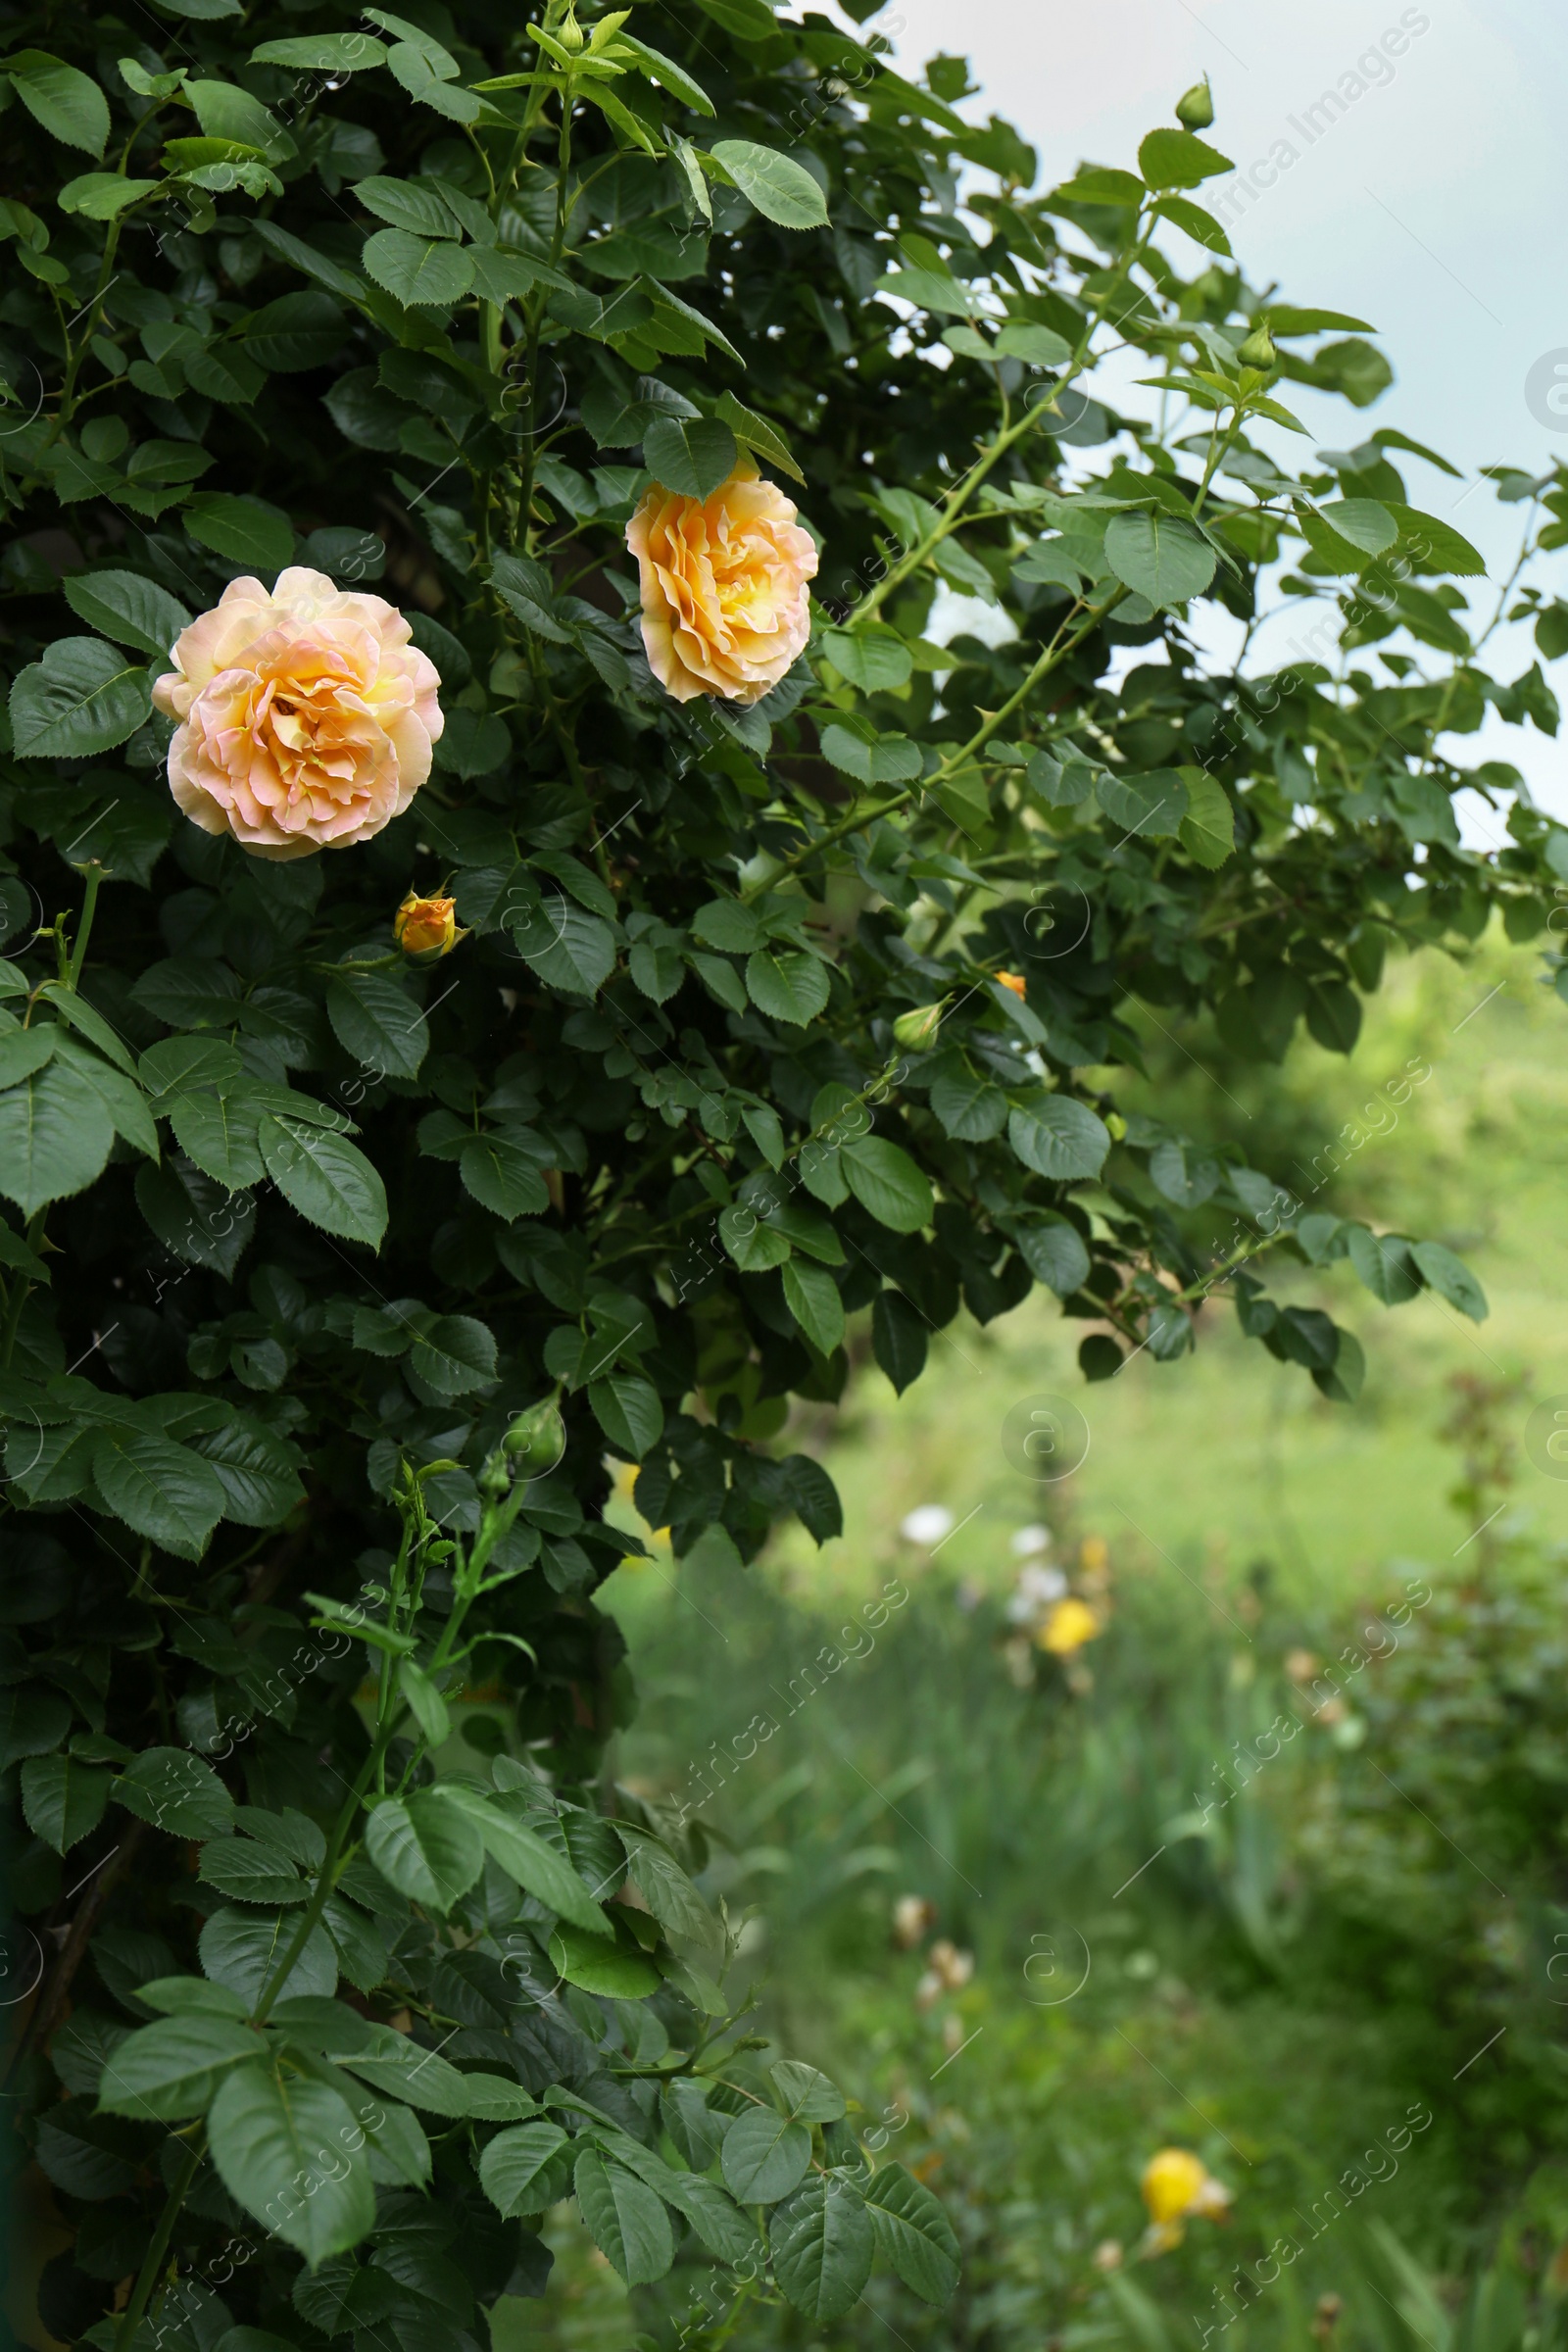
<instances>
[{"instance_id":1,"label":"blurred green grassy garden ground behind the rose bush","mask_svg":"<svg viewBox=\"0 0 1568 2352\"><path fill-rule=\"evenodd\" d=\"M1507 1616L1509 1562L1544 1562L1540 1623L1556 1625L1568 1484L1521 1458L1502 1519L1469 1541L1474 1505L1450 1501L1460 1465L1439 1430L1455 1376L1519 1376L1497 1406L1505 1439L1535 1399L1568 1390L1568 1011L1535 969L1533 950L1500 941L1462 971L1413 960L1349 1061L1298 1044L1279 1073L1237 1075L1211 1040L1182 1040L1204 1070L1152 1033L1164 1063L1152 1051L1150 1101L1178 1117L1175 1091L1182 1124L1218 1129L1279 1176L1309 1164L1385 1077L1429 1065L1399 1124L1312 1207L1460 1249L1490 1296L1479 1329L1434 1298L1389 1312L1345 1265L1284 1272L1288 1296L1331 1308L1366 1345L1366 1397L1345 1409L1244 1343L1225 1303L1204 1312L1197 1359L1145 1355L1084 1388L1081 1327L1030 1303L990 1329L961 1324L903 1399L863 1362L837 1416L799 1416L788 1442L827 1461L842 1541L818 1552L795 1529L743 1576L665 1557L604 1588L642 1691L618 1773L675 1799L708 1776L710 1884L748 1922L741 1978L762 2030L853 2091L863 2133L886 2131L886 2152L943 2192L964 2239L947 2314L875 2281L823 2343L886 2352L891 2331L943 2352L1197 2347L1222 2281L1286 2241L1300 2253L1225 2331L1227 2352L1514 2352L1519 2328L1490 2303L1486 2326L1453 2336L1458 2288L1439 2288L1486 2260L1514 2213L1523 2267L1497 2286L1497 2310L1514 2310L1528 2263L1568 2234L1561 2011L1530 1957L1530 1936L1552 1950L1552 1926L1568 1926L1549 1907L1568 1872L1552 1828L1544 1879L1509 1875L1507 1891L1488 1893L1486 1865L1462 1851L1502 1802L1495 1726L1554 1748L1556 1722L1547 1710L1530 1733L1523 1684L1476 1663L1493 1658L1483 1646L1472 1661L1467 1595L1497 1597ZM1084 1468L1046 1489L1011 1468L999 1435L1039 1392L1070 1397L1091 1425ZM898 1534L919 1503L959 1522L936 1557ZM1070 1672L1020 1646L1004 1616L1009 1538L1039 1519L1067 1564L1086 1536L1110 1545L1107 1623ZM1352 1611L1392 1604L1413 1562L1455 1595L1420 1621L1436 1644L1450 1611L1441 1708L1420 1675L1380 1696L1408 1658L1352 1677L1342 1722L1305 1722L1194 1832L1237 1743L1291 1708L1288 1653L1331 1656ZM889 1581L907 1597L867 1616ZM1530 1675L1556 1689L1561 1637L1528 1642ZM823 1651L844 1663L806 1691ZM1458 1717L1443 1712L1455 1691ZM1467 1792L1476 1724L1481 1785ZM1385 1771L1403 1773L1406 1757L1425 1773L1422 1804ZM1537 1766L1533 1818L1549 1823L1556 1764ZM917 1952L891 1933L900 1893L936 1907ZM976 1966L922 2002L936 1936ZM1495 2018L1512 2042L1469 2063ZM1432 2112L1429 2129L1324 2225L1331 2183L1347 2166L1385 2171L1392 2157L1368 2150L1387 2150L1410 2107ZM1204 2157L1234 2211L1138 2263L1138 2173L1168 2143ZM567 2213L552 2241L562 2303L550 2319L508 2305L501 2352L677 2333L677 2303L628 2303ZM1105 2241L1126 2253L1112 2281L1095 2267ZM1342 2296L1345 2312L1314 2333L1321 2296ZM733 2340L806 2336L752 2310Z\"/></svg>"}]
</instances>

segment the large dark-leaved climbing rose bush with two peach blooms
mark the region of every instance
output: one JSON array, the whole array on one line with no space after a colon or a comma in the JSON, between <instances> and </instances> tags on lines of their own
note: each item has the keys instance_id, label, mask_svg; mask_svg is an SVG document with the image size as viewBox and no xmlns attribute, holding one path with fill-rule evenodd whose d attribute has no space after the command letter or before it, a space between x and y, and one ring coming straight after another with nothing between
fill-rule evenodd
<instances>
[{"instance_id":1,"label":"large dark-leaved climbing rose bush with two peach blooms","mask_svg":"<svg viewBox=\"0 0 1568 2352\"><path fill-rule=\"evenodd\" d=\"M870 2291L907 2338L940 2206L764 2063L701 1825L607 1766L611 1465L741 1573L839 1534L790 1399L905 1388L959 1305L1044 1284L1105 1378L1225 1291L1338 1399L1269 1254L1481 1317L1114 1070L1145 1018L1345 1051L1389 953L1542 931L1568 837L1455 743L1556 703L1486 668L1443 461L1305 445L1288 383L1387 362L1244 282L1187 127L1034 193L959 61L766 0L132 16L0 56L42 2324L461 2352L571 2194L649 2328L717 2263L719 2331ZM1100 397L1128 339L1164 426ZM1206 595L1298 597L1298 659L1201 661Z\"/></svg>"}]
</instances>

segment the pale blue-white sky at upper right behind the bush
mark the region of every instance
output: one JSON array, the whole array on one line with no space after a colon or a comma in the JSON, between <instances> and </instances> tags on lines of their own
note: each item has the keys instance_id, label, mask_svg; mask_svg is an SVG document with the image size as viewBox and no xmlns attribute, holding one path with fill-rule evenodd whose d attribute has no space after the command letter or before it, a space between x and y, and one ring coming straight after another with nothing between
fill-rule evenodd
<instances>
[{"instance_id":1,"label":"pale blue-white sky at upper right behind the bush","mask_svg":"<svg viewBox=\"0 0 1568 2352\"><path fill-rule=\"evenodd\" d=\"M1568 456L1563 0L889 0L865 31L889 35L905 71L936 49L966 54L980 94L961 111L1016 122L1039 148L1044 183L1084 160L1133 165L1143 134L1171 122L1180 92L1208 73L1206 136L1262 183L1239 212L1227 207L1248 280L1368 320L1394 367L1371 409L1295 386L1291 405L1335 447L1387 423L1441 449L1465 480L1413 459L1410 503L1453 515L1507 572L1519 510L1500 508L1490 485L1476 489L1476 468L1542 473ZM1345 96L1338 115L1319 106L1324 92ZM1211 181L1199 198L1229 186ZM1180 233L1171 254L1197 261ZM1561 414L1549 400L1556 358ZM1568 550L1544 567L1568 597ZM1479 590L1472 609L1490 616L1490 595ZM1497 675L1533 659L1528 633L1507 630ZM1568 666L1549 675L1568 703ZM1455 750L1467 764L1512 760L1568 823L1568 724L1552 741L1493 722L1481 746L1472 736Z\"/></svg>"}]
</instances>

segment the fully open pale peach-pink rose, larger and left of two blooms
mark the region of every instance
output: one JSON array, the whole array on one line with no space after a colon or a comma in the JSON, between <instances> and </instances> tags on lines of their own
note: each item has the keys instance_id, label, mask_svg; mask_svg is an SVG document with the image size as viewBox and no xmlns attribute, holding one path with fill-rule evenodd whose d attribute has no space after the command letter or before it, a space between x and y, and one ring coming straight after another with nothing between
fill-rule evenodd
<instances>
[{"instance_id":1,"label":"fully open pale peach-pink rose, larger and left of two blooms","mask_svg":"<svg viewBox=\"0 0 1568 2352\"><path fill-rule=\"evenodd\" d=\"M292 564L268 593L237 579L181 630L153 687L169 790L202 833L259 858L353 849L430 774L444 720L440 675L378 595Z\"/></svg>"}]
</instances>

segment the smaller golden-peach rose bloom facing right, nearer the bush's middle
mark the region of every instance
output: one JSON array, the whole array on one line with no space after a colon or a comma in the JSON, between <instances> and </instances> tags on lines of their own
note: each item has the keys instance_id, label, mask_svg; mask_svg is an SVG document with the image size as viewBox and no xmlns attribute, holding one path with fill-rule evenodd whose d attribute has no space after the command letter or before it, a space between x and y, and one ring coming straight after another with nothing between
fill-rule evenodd
<instances>
[{"instance_id":1,"label":"smaller golden-peach rose bloom facing right, nearer the bush's middle","mask_svg":"<svg viewBox=\"0 0 1568 2352\"><path fill-rule=\"evenodd\" d=\"M811 635L816 546L792 499L750 463L705 499L658 482L625 527L642 572L642 642L658 684L689 703L759 703Z\"/></svg>"}]
</instances>

